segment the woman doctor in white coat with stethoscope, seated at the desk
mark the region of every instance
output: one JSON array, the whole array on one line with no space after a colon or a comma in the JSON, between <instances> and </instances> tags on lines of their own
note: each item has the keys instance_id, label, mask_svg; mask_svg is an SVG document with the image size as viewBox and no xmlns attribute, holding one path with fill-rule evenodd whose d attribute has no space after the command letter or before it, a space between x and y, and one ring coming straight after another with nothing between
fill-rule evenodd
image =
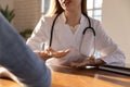
<instances>
[{"instance_id":1,"label":"woman doctor in white coat with stethoscope, seated at the desk","mask_svg":"<svg viewBox=\"0 0 130 87\"><path fill-rule=\"evenodd\" d=\"M88 17L87 0L51 0L48 15L40 18L27 45L53 64L76 67L125 64L125 54L102 24ZM100 52L98 59L95 50Z\"/></svg>"}]
</instances>

